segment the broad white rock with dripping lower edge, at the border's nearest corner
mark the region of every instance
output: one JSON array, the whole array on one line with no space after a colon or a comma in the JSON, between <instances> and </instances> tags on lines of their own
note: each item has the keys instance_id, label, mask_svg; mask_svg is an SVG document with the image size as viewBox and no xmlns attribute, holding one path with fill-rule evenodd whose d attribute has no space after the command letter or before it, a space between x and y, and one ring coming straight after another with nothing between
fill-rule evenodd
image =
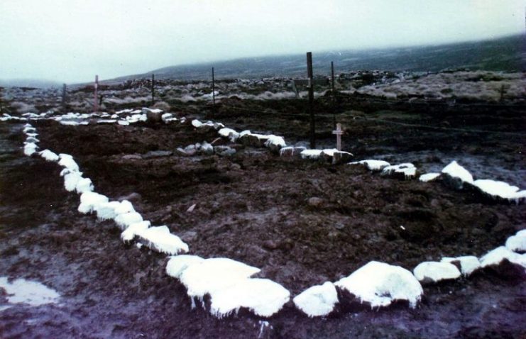
<instances>
[{"instance_id":1,"label":"broad white rock with dripping lower edge, at the border's nearest corner","mask_svg":"<svg viewBox=\"0 0 526 339\"><path fill-rule=\"evenodd\" d=\"M269 279L242 279L211 294L210 312L222 318L249 309L256 316L269 317L278 313L290 300L290 292L277 282Z\"/></svg>"}]
</instances>

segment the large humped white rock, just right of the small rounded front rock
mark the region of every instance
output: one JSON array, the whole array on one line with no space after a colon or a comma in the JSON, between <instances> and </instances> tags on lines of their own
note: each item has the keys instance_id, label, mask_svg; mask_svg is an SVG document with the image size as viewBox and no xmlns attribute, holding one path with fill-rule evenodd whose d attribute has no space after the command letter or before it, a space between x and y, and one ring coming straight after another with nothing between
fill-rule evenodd
<instances>
[{"instance_id":1,"label":"large humped white rock, just right of the small rounded front rock","mask_svg":"<svg viewBox=\"0 0 526 339\"><path fill-rule=\"evenodd\" d=\"M388 306L396 300L407 300L414 308L424 293L420 282L407 269L376 261L356 269L335 285L371 304L371 308Z\"/></svg>"}]
</instances>

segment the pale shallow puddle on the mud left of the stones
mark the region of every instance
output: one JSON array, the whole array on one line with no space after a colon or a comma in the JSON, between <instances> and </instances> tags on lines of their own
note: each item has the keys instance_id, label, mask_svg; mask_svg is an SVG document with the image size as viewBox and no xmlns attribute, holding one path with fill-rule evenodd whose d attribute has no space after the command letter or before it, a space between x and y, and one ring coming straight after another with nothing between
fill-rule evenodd
<instances>
[{"instance_id":1,"label":"pale shallow puddle on the mud left of the stones","mask_svg":"<svg viewBox=\"0 0 526 339\"><path fill-rule=\"evenodd\" d=\"M54 289L45 287L40 282L31 282L26 279L16 279L9 282L7 277L0 277L0 288L6 290L6 298L10 304L40 306L56 303L60 298L60 294ZM0 306L0 311L7 308L9 306Z\"/></svg>"}]
</instances>

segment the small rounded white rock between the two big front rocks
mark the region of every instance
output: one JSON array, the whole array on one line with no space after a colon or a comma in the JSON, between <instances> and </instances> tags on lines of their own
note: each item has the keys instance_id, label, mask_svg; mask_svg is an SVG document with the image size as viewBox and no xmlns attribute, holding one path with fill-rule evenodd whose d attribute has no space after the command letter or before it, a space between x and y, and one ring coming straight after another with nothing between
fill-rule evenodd
<instances>
[{"instance_id":1,"label":"small rounded white rock between the two big front rocks","mask_svg":"<svg viewBox=\"0 0 526 339\"><path fill-rule=\"evenodd\" d=\"M332 282L309 287L295 296L294 304L309 317L327 316L338 303L338 293Z\"/></svg>"}]
</instances>

